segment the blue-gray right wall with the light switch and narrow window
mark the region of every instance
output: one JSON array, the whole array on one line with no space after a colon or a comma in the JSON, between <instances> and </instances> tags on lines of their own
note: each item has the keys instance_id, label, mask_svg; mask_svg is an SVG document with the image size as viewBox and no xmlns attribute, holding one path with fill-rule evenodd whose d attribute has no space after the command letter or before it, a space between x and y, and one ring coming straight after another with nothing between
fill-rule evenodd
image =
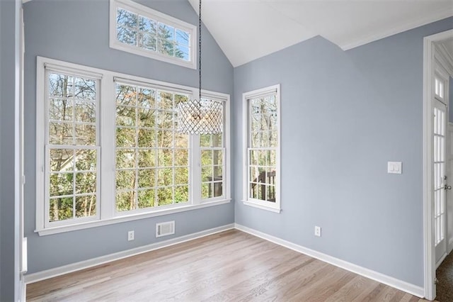
<instances>
[{"instance_id":1,"label":"blue-gray right wall with the light switch and narrow window","mask_svg":"<svg viewBox=\"0 0 453 302\"><path fill-rule=\"evenodd\" d=\"M450 28L453 18L346 52L315 37L235 68L233 116L243 92L280 83L282 121L280 214L240 202L233 124L236 223L423 286L423 37ZM388 161L403 174L387 174Z\"/></svg>"}]
</instances>

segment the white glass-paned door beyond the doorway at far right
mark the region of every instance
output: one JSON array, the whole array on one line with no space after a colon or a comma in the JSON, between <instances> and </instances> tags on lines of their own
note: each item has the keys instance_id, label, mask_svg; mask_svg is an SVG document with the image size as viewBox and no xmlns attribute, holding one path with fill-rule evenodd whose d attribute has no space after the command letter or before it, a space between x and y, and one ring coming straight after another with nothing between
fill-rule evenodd
<instances>
[{"instance_id":1,"label":"white glass-paned door beyond the doorway at far right","mask_svg":"<svg viewBox=\"0 0 453 302\"><path fill-rule=\"evenodd\" d=\"M447 106L435 99L434 107L434 238L436 266L447 255L446 189L447 184Z\"/></svg>"}]
</instances>

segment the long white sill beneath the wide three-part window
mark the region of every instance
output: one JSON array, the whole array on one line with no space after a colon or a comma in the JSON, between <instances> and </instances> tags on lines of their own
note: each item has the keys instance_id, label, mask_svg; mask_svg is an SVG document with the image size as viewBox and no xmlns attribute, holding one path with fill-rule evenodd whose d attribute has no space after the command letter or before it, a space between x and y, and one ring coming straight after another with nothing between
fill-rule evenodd
<instances>
[{"instance_id":1,"label":"long white sill beneath the wide three-part window","mask_svg":"<svg viewBox=\"0 0 453 302\"><path fill-rule=\"evenodd\" d=\"M90 221L90 222L86 222L86 223L78 223L78 224L74 224L74 225L64 225L64 226L58 226L58 227L54 227L54 228L38 229L38 230L35 230L35 233L38 233L38 235L40 235L40 236L45 236L45 235L71 232L73 230L96 228L98 226L103 226L103 225L124 223L124 222L132 221L132 220L139 220L139 219L144 219L144 218L169 215L169 214L173 214L173 213L192 211L192 210L196 210L198 208L219 206L224 203L229 203L230 201L231 201L231 199L222 199L219 201L208 201L208 202L200 203L200 204L194 204L194 205L191 204L188 206L180 206L178 208L170 208L170 209L166 208L166 209L153 211L153 212L136 213L133 215L119 216L119 217L109 218L109 219L105 219L105 220L95 220L95 221Z\"/></svg>"}]
</instances>

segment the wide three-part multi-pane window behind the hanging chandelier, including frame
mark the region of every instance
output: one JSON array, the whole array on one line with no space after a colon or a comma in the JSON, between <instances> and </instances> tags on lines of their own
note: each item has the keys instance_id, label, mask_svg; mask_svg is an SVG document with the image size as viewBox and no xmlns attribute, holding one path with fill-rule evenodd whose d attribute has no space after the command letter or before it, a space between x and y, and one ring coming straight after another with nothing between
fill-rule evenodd
<instances>
[{"instance_id":1,"label":"wide three-part multi-pane window behind the hanging chandelier, including frame","mask_svg":"<svg viewBox=\"0 0 453 302\"><path fill-rule=\"evenodd\" d=\"M177 130L178 104L197 93L38 57L38 232L229 202L227 133ZM204 101L223 105L226 121L228 96L205 94Z\"/></svg>"}]
</instances>

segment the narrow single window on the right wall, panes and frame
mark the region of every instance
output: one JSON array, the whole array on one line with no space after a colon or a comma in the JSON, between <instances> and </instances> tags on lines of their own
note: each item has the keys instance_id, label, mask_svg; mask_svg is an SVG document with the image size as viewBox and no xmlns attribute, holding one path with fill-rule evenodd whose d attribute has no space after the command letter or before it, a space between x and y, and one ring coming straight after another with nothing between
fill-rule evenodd
<instances>
[{"instance_id":1,"label":"narrow single window on the right wall, panes and frame","mask_svg":"<svg viewBox=\"0 0 453 302\"><path fill-rule=\"evenodd\" d=\"M243 94L243 203L280 213L280 84Z\"/></svg>"}]
</instances>

